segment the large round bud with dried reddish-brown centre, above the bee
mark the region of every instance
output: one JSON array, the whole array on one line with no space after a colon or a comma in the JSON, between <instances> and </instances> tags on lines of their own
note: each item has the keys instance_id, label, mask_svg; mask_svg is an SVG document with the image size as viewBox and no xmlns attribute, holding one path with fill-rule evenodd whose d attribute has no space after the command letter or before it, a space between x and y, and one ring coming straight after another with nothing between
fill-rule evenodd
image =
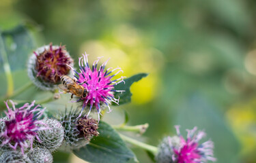
<instances>
[{"instance_id":1,"label":"large round bud with dried reddish-brown centre, above the bee","mask_svg":"<svg viewBox=\"0 0 256 163\"><path fill-rule=\"evenodd\" d=\"M42 46L33 52L28 62L31 81L42 90L55 90L60 77L68 75L73 59L65 46Z\"/></svg>"}]
</instances>

